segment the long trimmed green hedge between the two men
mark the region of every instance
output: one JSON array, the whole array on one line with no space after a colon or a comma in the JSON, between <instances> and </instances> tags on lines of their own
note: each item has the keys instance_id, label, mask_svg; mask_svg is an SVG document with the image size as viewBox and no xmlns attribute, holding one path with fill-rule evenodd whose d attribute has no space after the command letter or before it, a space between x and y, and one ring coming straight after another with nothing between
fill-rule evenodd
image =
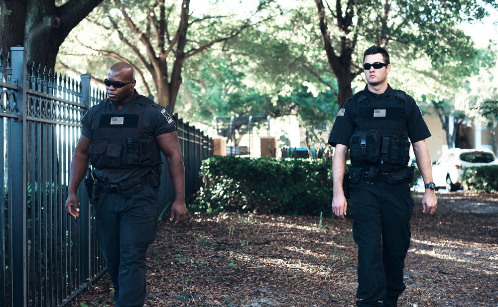
<instances>
[{"instance_id":1,"label":"long trimmed green hedge between the two men","mask_svg":"<svg viewBox=\"0 0 498 307\"><path fill-rule=\"evenodd\" d=\"M213 156L201 165L205 212L331 214L332 162Z\"/></svg>"}]
</instances>

